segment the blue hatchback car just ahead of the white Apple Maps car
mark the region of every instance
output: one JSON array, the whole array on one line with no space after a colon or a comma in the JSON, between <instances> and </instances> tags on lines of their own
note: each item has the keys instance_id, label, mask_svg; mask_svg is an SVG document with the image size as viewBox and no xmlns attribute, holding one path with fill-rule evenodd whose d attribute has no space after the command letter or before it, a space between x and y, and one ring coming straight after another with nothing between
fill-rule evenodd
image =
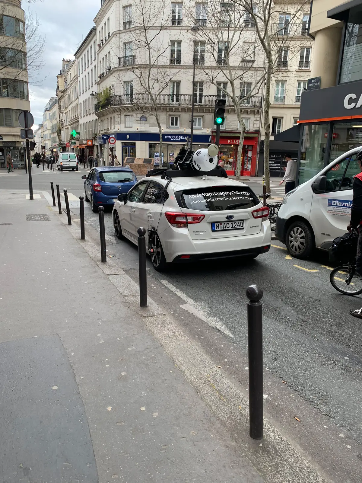
<instances>
[{"instance_id":1,"label":"blue hatchback car just ahead of the white Apple Maps car","mask_svg":"<svg viewBox=\"0 0 362 483\"><path fill-rule=\"evenodd\" d=\"M100 166L89 171L84 179L85 201L92 203L93 213L97 213L98 206L113 206L121 193L128 193L137 183L135 173L129 168L114 166Z\"/></svg>"}]
</instances>

